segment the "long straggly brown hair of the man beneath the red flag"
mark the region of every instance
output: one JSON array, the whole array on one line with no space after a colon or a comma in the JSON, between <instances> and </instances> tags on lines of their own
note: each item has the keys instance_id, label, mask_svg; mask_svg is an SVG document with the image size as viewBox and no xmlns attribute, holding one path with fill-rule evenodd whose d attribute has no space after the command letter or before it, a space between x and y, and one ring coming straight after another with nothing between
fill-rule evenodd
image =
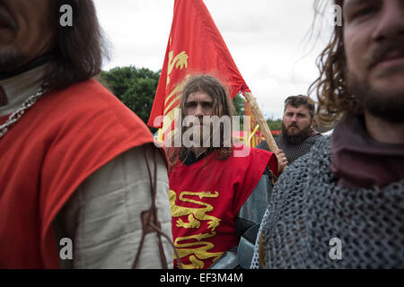
<instances>
[{"instance_id":1,"label":"long straggly brown hair of the man beneath the red flag","mask_svg":"<svg viewBox=\"0 0 404 287\"><path fill-rule=\"evenodd\" d=\"M230 117L230 120L231 120L230 143L233 143L232 119L235 114L233 102L230 99L228 91L224 87L224 85L222 83L220 83L220 81L217 80L212 75L199 74L199 75L194 75L189 78L189 80L185 84L185 87L181 94L181 100L180 100L181 118L184 119L186 117L185 103L189 97L189 94L191 94L192 92L198 92L198 91L206 92L206 94L208 94L212 98L214 116ZM180 133L178 133L177 136L182 136L186 130L186 127L181 126L181 123L179 123L179 124L180 124L180 126L178 128L180 129ZM230 147L224 146L225 139L224 139L224 130L223 130L222 126L220 127L220 134L221 134L220 135L220 147L216 147L216 148L210 147L208 149L208 152L216 152L216 155L215 155L216 159L225 160L232 155L233 146L232 145ZM181 144L180 147L172 147L168 152L171 168L173 168L177 164L177 161L179 159L181 161L185 161L189 157L189 152L190 152L189 148L185 147L183 144Z\"/></svg>"}]
</instances>

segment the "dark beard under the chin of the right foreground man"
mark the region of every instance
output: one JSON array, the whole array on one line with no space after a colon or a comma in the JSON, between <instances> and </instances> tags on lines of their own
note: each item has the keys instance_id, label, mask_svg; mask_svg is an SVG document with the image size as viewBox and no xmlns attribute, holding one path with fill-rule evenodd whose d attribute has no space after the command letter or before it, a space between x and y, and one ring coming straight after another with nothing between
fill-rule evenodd
<instances>
[{"instance_id":1,"label":"dark beard under the chin of the right foreground man","mask_svg":"<svg viewBox=\"0 0 404 287\"><path fill-rule=\"evenodd\" d=\"M404 91L380 91L374 89L367 78L359 81L356 75L347 73L347 91L358 104L375 117L393 123L404 123Z\"/></svg>"}]
</instances>

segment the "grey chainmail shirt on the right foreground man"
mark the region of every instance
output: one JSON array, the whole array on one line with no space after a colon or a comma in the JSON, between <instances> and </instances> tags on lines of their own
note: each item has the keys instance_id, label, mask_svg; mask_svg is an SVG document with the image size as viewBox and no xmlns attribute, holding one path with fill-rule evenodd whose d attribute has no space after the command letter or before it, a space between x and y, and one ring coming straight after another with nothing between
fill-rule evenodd
<instances>
[{"instance_id":1,"label":"grey chainmail shirt on the right foreground man","mask_svg":"<svg viewBox=\"0 0 404 287\"><path fill-rule=\"evenodd\" d=\"M404 268L404 179L338 187L330 138L286 168L274 188L251 268ZM341 258L331 259L340 239Z\"/></svg>"}]
</instances>

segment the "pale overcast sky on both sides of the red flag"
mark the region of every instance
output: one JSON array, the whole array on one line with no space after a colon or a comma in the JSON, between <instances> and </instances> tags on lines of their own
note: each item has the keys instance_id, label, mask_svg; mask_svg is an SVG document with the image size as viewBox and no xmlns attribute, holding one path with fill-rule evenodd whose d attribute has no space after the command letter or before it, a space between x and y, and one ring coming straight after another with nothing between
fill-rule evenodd
<instances>
[{"instance_id":1,"label":"pale overcast sky on both sides of the red flag","mask_svg":"<svg viewBox=\"0 0 404 287\"><path fill-rule=\"evenodd\" d=\"M104 70L126 65L162 68L174 0L94 2L111 45ZM204 3L265 117L282 117L285 98L306 94L316 79L315 59L329 39L330 21L325 21L321 38L310 39L313 0Z\"/></svg>"}]
</instances>

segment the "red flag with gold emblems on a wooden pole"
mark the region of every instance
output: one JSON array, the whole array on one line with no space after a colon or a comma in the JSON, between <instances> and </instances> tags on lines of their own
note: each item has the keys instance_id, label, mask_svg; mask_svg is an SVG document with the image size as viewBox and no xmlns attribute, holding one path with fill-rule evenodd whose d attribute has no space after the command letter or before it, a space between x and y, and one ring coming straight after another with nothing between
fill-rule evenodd
<instances>
[{"instance_id":1,"label":"red flag with gold emblems on a wooden pole","mask_svg":"<svg viewBox=\"0 0 404 287\"><path fill-rule=\"evenodd\" d=\"M183 57L178 61L175 57L180 53ZM228 87L232 99L239 91L250 91L202 0L176 0L174 3L170 39L149 126L162 127L162 123L154 125L154 118L166 115L180 104L181 89L173 91L189 74L214 75ZM167 109L165 113L164 109Z\"/></svg>"}]
</instances>

